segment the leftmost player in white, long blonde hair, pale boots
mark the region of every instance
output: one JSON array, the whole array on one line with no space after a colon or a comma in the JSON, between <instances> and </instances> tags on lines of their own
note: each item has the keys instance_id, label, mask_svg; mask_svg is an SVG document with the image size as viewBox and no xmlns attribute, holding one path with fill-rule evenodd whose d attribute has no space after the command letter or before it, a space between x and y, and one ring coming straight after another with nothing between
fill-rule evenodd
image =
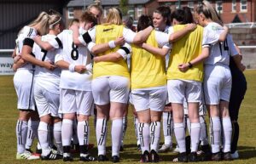
<instances>
[{"instance_id":1,"label":"leftmost player in white, long blonde hair, pale boots","mask_svg":"<svg viewBox=\"0 0 256 164\"><path fill-rule=\"evenodd\" d=\"M49 15L42 12L38 15L36 20L33 20L30 25L26 25L20 31L17 42L15 58L15 90L18 96L18 109L20 110L20 116L16 126L17 135L17 155L16 159L33 160L38 159L39 156L32 156L30 152L25 150L26 135L27 135L27 122L31 117L31 112L35 110L34 96L33 96L33 76L34 66L30 63L26 63L23 59L20 59L23 42L26 37L35 37L36 35L44 35L49 31ZM35 127L35 126L32 126ZM36 129L35 129L36 130Z\"/></svg>"}]
</instances>

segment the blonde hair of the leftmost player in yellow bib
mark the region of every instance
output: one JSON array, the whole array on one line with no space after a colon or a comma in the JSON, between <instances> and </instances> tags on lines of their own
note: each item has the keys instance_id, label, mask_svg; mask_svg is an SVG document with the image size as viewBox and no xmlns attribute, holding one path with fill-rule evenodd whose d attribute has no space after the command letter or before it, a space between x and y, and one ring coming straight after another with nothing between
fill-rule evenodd
<instances>
[{"instance_id":1,"label":"blonde hair of the leftmost player in yellow bib","mask_svg":"<svg viewBox=\"0 0 256 164\"><path fill-rule=\"evenodd\" d=\"M122 25L122 14L118 8L109 8L106 23L114 25Z\"/></svg>"}]
</instances>

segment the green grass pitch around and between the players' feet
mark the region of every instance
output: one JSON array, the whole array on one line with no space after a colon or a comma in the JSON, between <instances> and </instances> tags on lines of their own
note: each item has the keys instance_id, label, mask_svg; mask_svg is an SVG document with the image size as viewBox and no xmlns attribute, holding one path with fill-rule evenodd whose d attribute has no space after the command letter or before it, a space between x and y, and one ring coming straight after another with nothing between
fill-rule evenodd
<instances>
[{"instance_id":1,"label":"green grass pitch around and between the players' feet","mask_svg":"<svg viewBox=\"0 0 256 164\"><path fill-rule=\"evenodd\" d=\"M256 163L256 71L245 71L247 76L247 94L241 105L239 122L240 122L240 140L238 150L240 159L236 161L220 161L218 163L238 163L238 164L255 164ZM0 76L0 163L18 164L18 163L64 163L58 161L17 161L16 155L16 138L15 125L18 118L16 110L16 94L13 84L13 76ZM255 104L254 104L255 103ZM111 122L108 122L108 127ZM110 131L108 128L108 157L111 156ZM161 136L163 142L163 136ZM90 119L90 143L96 144L96 135L94 132L93 122ZM36 142L34 142L34 145ZM33 150L35 148L33 147ZM91 154L96 156L96 147L91 150ZM131 110L128 116L128 128L125 136L125 150L121 152L121 163L138 163L140 152L137 151L136 138L133 128L133 117ZM170 163L176 156L174 153L160 154L163 161L160 163ZM81 163L75 158L72 163ZM96 161L97 162L97 161ZM94 162L94 163L96 163ZM105 163L105 162L104 162ZM112 163L111 161L107 163ZM213 161L200 163L215 163Z\"/></svg>"}]
</instances>

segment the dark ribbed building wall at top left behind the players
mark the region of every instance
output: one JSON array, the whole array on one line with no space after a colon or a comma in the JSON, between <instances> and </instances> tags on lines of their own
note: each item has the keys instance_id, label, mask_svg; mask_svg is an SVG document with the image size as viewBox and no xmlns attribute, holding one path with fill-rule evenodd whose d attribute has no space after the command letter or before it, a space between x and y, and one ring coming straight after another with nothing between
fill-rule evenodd
<instances>
[{"instance_id":1,"label":"dark ribbed building wall at top left behind the players","mask_svg":"<svg viewBox=\"0 0 256 164\"><path fill-rule=\"evenodd\" d=\"M62 13L67 0L1 0L0 1L0 49L15 48L15 39L24 26L34 20L41 11L50 8Z\"/></svg>"}]
</instances>

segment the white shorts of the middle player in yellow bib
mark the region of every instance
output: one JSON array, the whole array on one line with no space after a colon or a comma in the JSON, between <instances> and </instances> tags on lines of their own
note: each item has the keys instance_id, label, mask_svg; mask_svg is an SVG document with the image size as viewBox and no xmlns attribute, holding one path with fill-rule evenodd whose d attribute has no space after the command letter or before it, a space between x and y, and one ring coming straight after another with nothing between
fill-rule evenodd
<instances>
[{"instance_id":1,"label":"white shorts of the middle player in yellow bib","mask_svg":"<svg viewBox=\"0 0 256 164\"><path fill-rule=\"evenodd\" d=\"M154 110L163 111L166 106L166 88L153 90L132 90L131 99L136 111Z\"/></svg>"}]
</instances>

